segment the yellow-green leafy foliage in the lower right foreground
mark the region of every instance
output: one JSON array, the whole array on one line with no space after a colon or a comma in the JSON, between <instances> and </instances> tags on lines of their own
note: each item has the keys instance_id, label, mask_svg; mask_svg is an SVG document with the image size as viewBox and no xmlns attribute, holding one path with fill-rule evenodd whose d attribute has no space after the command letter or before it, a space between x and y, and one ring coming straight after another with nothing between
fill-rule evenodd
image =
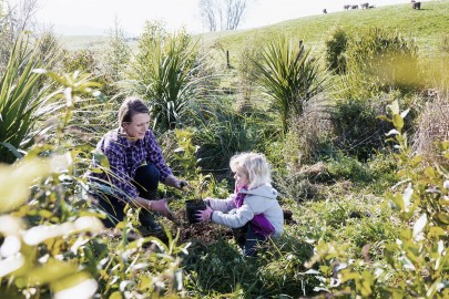
<instances>
[{"instance_id":1,"label":"yellow-green leafy foliage in the lower right foreground","mask_svg":"<svg viewBox=\"0 0 449 299\"><path fill-rule=\"evenodd\" d=\"M386 197L397 212L400 223L396 239L386 239L384 259L371 260L369 245L364 258L348 260L338 243L322 241L308 267L318 262L322 276L319 289L334 296L374 296L390 298L447 298L449 296L449 173L443 165L422 166L422 158L412 155L407 134L402 133L404 117L394 102L388 106L395 130L389 141L396 145L394 154L400 181ZM449 142L440 144L449 159ZM445 164L446 166L448 164Z\"/></svg>"}]
</instances>

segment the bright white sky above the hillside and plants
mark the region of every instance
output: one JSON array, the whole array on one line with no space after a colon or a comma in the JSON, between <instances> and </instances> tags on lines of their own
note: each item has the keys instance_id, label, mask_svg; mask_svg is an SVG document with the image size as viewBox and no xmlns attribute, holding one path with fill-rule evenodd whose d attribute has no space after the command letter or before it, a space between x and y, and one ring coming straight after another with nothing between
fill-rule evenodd
<instances>
[{"instance_id":1,"label":"bright white sky above the hillside and plants","mask_svg":"<svg viewBox=\"0 0 449 299\"><path fill-rule=\"evenodd\" d=\"M185 27L191 33L205 32L198 9L200 0L38 0L37 19L63 27L89 27L105 30L118 19L125 32L139 35L145 20L162 20L169 30ZM247 0L246 14L238 29L258 28L306 16L343 11L346 3L368 1L376 7L408 3L409 0ZM20 0L9 0L10 3ZM68 31L65 34L69 33ZM61 32L58 32L61 33Z\"/></svg>"}]
</instances>

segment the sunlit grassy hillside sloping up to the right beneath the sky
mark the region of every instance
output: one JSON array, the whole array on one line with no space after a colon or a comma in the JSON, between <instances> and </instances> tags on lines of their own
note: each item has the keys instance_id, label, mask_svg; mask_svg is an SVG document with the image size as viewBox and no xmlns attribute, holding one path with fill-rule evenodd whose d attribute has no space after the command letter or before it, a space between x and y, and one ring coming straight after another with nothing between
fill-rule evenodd
<instances>
[{"instance_id":1,"label":"sunlit grassy hillside sloping up to the right beneath the sky","mask_svg":"<svg viewBox=\"0 0 449 299\"><path fill-rule=\"evenodd\" d=\"M233 56L251 41L279 34L303 40L306 47L320 51L329 32L337 27L354 31L366 27L384 27L415 39L422 53L431 54L448 39L449 1L425 2L421 8L414 10L407 3L341 11L288 20L253 30L208 33L203 35L203 40L208 44L220 42Z\"/></svg>"}]
</instances>

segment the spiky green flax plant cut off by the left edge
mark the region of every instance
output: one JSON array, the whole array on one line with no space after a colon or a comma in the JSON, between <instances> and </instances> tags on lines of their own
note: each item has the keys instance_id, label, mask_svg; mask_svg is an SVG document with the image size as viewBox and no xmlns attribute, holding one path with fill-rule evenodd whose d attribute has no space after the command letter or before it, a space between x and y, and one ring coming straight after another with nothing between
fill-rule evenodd
<instances>
[{"instance_id":1,"label":"spiky green flax plant cut off by the left edge","mask_svg":"<svg viewBox=\"0 0 449 299\"><path fill-rule=\"evenodd\" d=\"M30 50L27 38L19 39L11 51L4 72L0 74L0 162L13 163L39 135L37 123L43 114L52 115L54 106L47 96L50 84L42 83L39 47ZM47 110L42 107L48 106ZM51 109L50 109L51 107Z\"/></svg>"}]
</instances>

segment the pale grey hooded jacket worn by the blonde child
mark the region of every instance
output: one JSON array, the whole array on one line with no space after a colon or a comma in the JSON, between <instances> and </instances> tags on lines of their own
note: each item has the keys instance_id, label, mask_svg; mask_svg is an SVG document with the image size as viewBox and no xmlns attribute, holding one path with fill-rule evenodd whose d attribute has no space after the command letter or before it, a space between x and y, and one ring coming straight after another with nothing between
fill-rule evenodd
<instances>
[{"instance_id":1,"label":"pale grey hooded jacket worn by the blonde child","mask_svg":"<svg viewBox=\"0 0 449 299\"><path fill-rule=\"evenodd\" d=\"M277 190L266 184L242 193L246 196L239 208L236 208L234 202L236 194L226 199L211 198L210 205L214 210L212 221L238 228L251 221L255 215L263 213L275 227L273 237L278 237L284 230L284 213L276 199Z\"/></svg>"}]
</instances>

